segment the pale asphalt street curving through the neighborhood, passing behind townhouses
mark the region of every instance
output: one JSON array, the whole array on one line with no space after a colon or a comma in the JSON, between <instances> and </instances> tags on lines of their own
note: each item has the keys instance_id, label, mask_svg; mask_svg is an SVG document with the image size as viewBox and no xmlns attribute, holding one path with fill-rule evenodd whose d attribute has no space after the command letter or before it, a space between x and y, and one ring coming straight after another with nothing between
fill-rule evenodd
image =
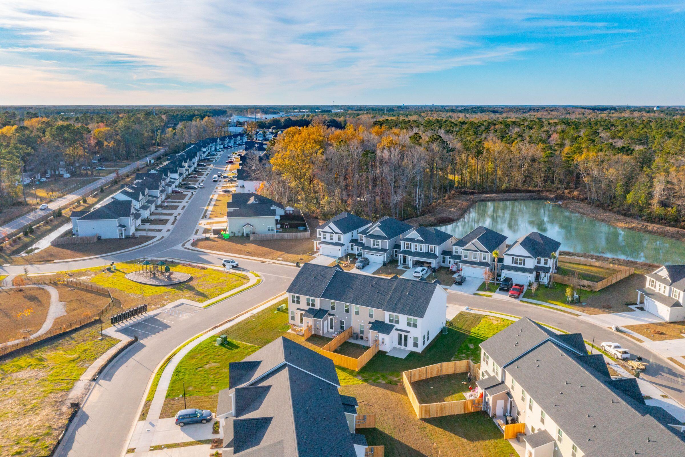
<instances>
[{"instance_id":1,"label":"pale asphalt street curving through the neighborhood, passing behind townhouses","mask_svg":"<svg viewBox=\"0 0 685 457\"><path fill-rule=\"evenodd\" d=\"M221 161L225 160L229 152L224 152L216 165L221 165ZM219 265L221 259L217 255L181 247L182 243L195 235L199 228L199 220L213 192L213 185L197 189L172 231L153 244L95 259L29 266L29 273L75 270L103 266L111 261L127 261L142 257L173 258ZM206 331L216 323L283 292L298 271L293 266L246 259L240 260L240 266L260 273L264 281L254 288L180 320L173 325L173 329L169 327L150 334L124 351L119 358L105 368L95 382L95 386L82 405L82 410L66 430L64 441L58 447L56 456L119 457L125 453L129 432L138 420L138 408L142 403L149 379L166 355L185 340ZM23 274L23 266L1 267L0 274ZM592 341L594 338L595 344L606 340L617 340L632 353L642 355L645 361L649 362L647 371L643 373L645 379L658 386L671 398L685 404L683 375L670 368L669 362L660 355L621 333L599 327L569 314L497 298L450 293L448 303L491 312L527 316L566 331L582 332L586 340Z\"/></svg>"}]
</instances>

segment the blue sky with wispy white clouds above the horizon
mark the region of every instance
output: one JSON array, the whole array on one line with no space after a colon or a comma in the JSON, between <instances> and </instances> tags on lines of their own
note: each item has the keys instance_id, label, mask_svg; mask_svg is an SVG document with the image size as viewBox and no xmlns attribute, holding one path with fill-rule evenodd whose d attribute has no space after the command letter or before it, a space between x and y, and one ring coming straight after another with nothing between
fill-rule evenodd
<instances>
[{"instance_id":1,"label":"blue sky with wispy white clouds above the horizon","mask_svg":"<svg viewBox=\"0 0 685 457\"><path fill-rule=\"evenodd\" d=\"M685 1L0 2L0 104L685 105Z\"/></svg>"}]
</instances>

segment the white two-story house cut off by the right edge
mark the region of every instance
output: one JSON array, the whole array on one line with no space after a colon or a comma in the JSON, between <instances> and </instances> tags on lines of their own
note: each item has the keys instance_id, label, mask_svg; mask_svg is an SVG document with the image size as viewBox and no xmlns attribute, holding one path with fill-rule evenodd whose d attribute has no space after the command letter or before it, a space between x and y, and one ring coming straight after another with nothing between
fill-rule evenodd
<instances>
[{"instance_id":1,"label":"white two-story house cut off by the right edge","mask_svg":"<svg viewBox=\"0 0 685 457\"><path fill-rule=\"evenodd\" d=\"M637 290L638 305L667 322L685 320L685 265L664 265L645 277L645 288Z\"/></svg>"}]
</instances>

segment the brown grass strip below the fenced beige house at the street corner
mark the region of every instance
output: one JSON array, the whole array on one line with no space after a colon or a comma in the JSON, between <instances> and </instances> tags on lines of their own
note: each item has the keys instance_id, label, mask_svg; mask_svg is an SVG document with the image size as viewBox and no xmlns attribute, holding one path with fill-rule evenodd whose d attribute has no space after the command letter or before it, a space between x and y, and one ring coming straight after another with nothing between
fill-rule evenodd
<instances>
[{"instance_id":1,"label":"brown grass strip below the fenced beige house at the street corner","mask_svg":"<svg viewBox=\"0 0 685 457\"><path fill-rule=\"evenodd\" d=\"M314 232L314 231L312 231ZM227 255L237 254L286 262L308 262L314 259L314 242L307 239L269 239L251 242L249 237L198 239L193 246L216 250Z\"/></svg>"}]
</instances>

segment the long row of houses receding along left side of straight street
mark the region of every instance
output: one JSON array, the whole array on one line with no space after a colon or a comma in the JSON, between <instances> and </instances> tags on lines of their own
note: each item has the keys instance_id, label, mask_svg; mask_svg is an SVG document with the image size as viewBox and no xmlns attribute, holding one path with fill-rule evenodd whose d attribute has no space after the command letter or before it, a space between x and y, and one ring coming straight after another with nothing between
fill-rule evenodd
<instances>
[{"instance_id":1,"label":"long row of houses receding along left side of straight street","mask_svg":"<svg viewBox=\"0 0 685 457\"><path fill-rule=\"evenodd\" d=\"M245 143L245 134L212 138L193 143L183 152L146 173L136 173L134 181L90 211L71 213L72 233L77 236L98 235L102 238L124 238L136 233L143 219L155 209L188 176L197 163L210 152Z\"/></svg>"}]
</instances>

